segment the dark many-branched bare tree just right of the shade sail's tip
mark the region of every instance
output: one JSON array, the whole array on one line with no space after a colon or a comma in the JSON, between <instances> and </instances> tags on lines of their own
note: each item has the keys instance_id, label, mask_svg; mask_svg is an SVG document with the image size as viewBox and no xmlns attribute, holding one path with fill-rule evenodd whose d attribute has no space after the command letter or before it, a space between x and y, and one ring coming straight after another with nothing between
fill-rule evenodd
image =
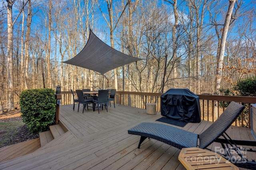
<instances>
[{"instance_id":1,"label":"dark many-branched bare tree just right of the shade sail's tip","mask_svg":"<svg viewBox=\"0 0 256 170\"><path fill-rule=\"evenodd\" d=\"M160 10L161 9L161 10ZM170 82L170 74L174 68L171 38L170 18L166 6L158 6L157 2L139 3L132 38L124 32L125 47L133 57L142 57L145 60L130 64L129 81L138 92L161 92L162 85ZM132 39L132 43L129 42ZM177 38L178 41L178 38ZM168 61L166 61L166 54ZM167 62L166 80L163 82L164 63ZM176 60L175 62L177 62ZM131 67L133 66L133 67Z\"/></svg>"}]
</instances>

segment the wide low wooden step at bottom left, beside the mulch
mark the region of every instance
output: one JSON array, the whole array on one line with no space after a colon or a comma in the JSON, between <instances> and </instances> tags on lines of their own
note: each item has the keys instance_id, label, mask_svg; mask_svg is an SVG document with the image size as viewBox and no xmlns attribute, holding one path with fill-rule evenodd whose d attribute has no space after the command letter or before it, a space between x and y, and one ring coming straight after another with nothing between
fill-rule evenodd
<instances>
[{"instance_id":1,"label":"wide low wooden step at bottom left, beside the mulch","mask_svg":"<svg viewBox=\"0 0 256 170\"><path fill-rule=\"evenodd\" d=\"M18 158L20 156L24 156L26 154L30 154L35 150L39 149L40 147L41 145L39 138L2 147L0 148L0 162L4 162L7 160Z\"/></svg>"}]
</instances>

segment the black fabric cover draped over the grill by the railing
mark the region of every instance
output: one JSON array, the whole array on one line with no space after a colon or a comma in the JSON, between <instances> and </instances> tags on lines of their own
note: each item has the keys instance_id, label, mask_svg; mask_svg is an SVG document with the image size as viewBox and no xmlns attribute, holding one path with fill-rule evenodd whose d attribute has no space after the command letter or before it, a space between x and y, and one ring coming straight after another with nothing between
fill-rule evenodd
<instances>
[{"instance_id":1,"label":"black fabric cover draped over the grill by the railing","mask_svg":"<svg viewBox=\"0 0 256 170\"><path fill-rule=\"evenodd\" d=\"M161 95L161 115L179 121L199 123L199 97L187 88L171 88Z\"/></svg>"}]
</instances>

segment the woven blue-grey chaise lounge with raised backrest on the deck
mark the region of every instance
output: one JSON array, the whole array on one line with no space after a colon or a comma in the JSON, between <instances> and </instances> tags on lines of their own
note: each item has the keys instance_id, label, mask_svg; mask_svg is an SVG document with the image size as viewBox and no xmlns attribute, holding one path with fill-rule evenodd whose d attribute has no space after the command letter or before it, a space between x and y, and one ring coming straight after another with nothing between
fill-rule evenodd
<instances>
[{"instance_id":1,"label":"woven blue-grey chaise lounge with raised backrest on the deck","mask_svg":"<svg viewBox=\"0 0 256 170\"><path fill-rule=\"evenodd\" d=\"M245 108L244 106L236 102L231 102L228 105L228 107L224 110L224 112L220 115L220 117L200 135L189 132L189 131L185 131L176 127L172 127L169 125L164 125L160 123L149 123L149 122L148 123L143 122L136 125L135 127L129 129L128 133L132 135L141 136L138 149L140 148L140 145L147 137L156 139L158 141L161 141L163 143L166 143L178 149L190 148L190 147L199 147L201 149L206 149L206 147L208 147L211 143L216 141L220 136L224 137L225 131L236 120L236 118L240 115L240 113L244 110L244 108ZM225 133L225 135L227 134ZM244 141L244 144L246 142L247 141ZM250 145L250 146L253 146L253 145ZM228 157L226 157L226 159L228 159ZM248 162L249 161L247 160L246 163ZM232 163L235 164L236 162L232 162ZM250 163L251 163L250 166L256 167L256 163L254 160L250 161ZM241 164L241 162L238 162L238 165L236 164L236 166L243 167L243 166L248 166L248 164L245 165L245 164Z\"/></svg>"}]
</instances>

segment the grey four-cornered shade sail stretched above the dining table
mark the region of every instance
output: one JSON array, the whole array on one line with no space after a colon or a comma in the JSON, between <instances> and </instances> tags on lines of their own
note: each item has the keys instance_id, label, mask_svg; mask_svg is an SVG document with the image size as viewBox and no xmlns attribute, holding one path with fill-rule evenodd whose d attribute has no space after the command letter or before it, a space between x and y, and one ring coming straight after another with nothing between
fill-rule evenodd
<instances>
[{"instance_id":1,"label":"grey four-cornered shade sail stretched above the dining table","mask_svg":"<svg viewBox=\"0 0 256 170\"><path fill-rule=\"evenodd\" d=\"M142 59L126 55L106 45L90 30L90 36L84 49L76 57L63 63L80 66L104 74L114 68L139 60Z\"/></svg>"}]
</instances>

